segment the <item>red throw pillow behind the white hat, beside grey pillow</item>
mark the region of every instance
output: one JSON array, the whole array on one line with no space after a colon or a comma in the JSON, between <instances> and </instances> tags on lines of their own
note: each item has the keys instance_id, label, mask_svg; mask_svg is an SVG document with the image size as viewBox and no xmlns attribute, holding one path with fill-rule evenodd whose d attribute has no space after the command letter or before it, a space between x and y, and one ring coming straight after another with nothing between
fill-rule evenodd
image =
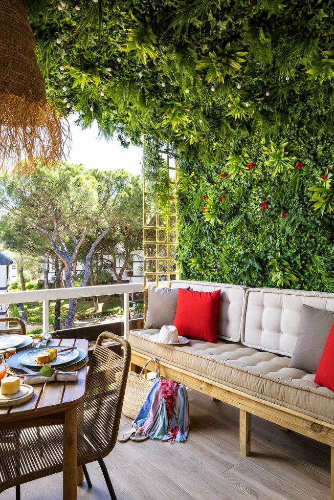
<instances>
[{"instance_id":1,"label":"red throw pillow behind the white hat, beside grey pillow","mask_svg":"<svg viewBox=\"0 0 334 500\"><path fill-rule=\"evenodd\" d=\"M178 289L174 326L178 334L193 340L217 343L220 290Z\"/></svg>"}]
</instances>

